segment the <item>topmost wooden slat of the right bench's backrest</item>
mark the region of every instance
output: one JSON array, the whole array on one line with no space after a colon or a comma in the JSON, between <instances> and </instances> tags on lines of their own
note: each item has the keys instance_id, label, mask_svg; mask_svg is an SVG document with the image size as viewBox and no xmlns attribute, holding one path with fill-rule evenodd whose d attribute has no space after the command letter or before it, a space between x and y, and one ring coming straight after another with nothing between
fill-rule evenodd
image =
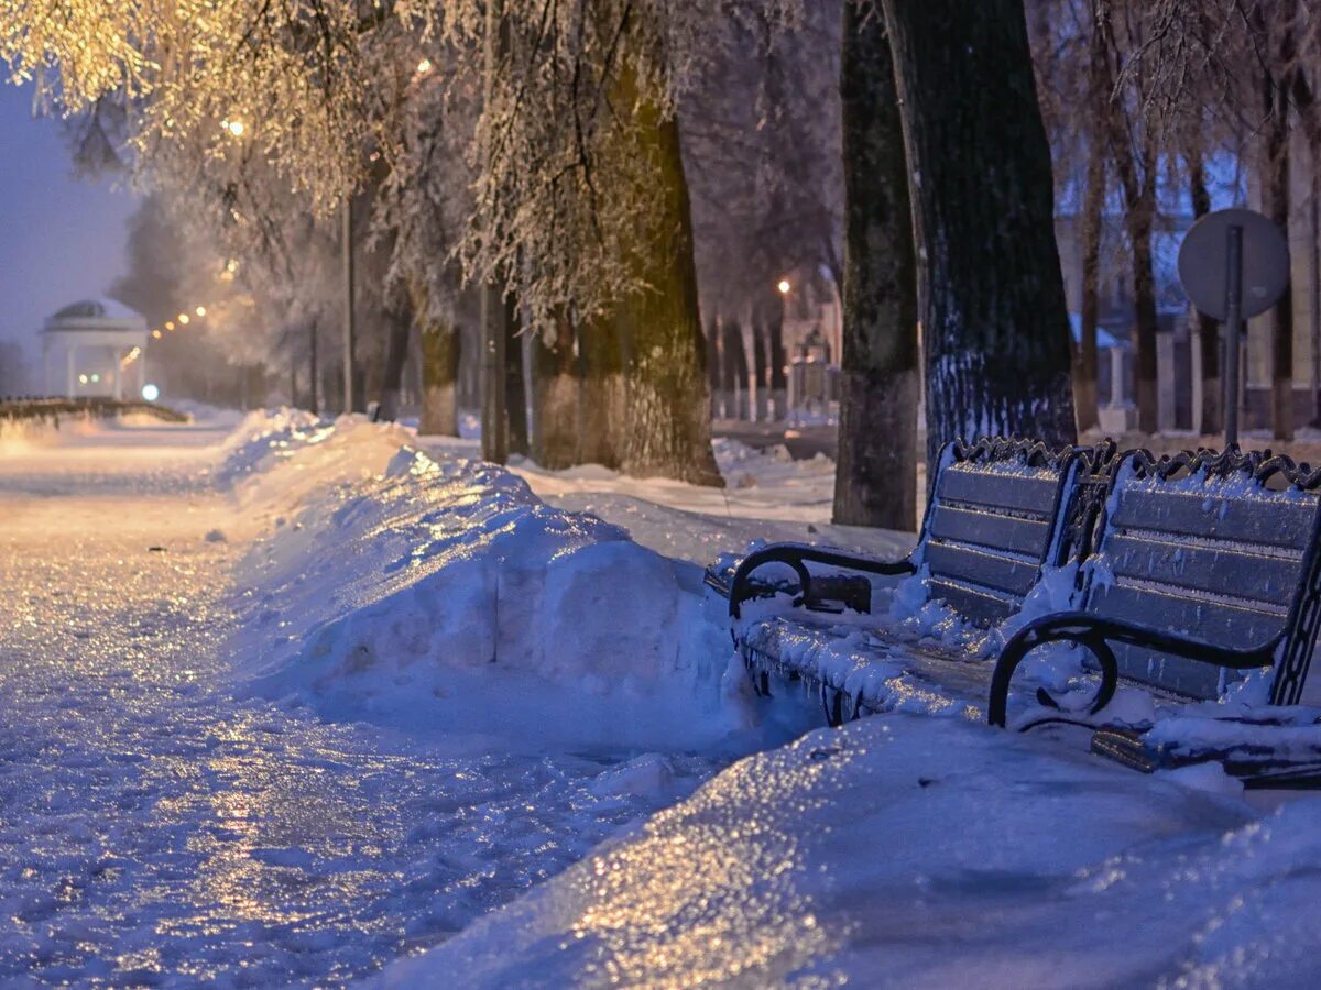
<instances>
[{"instance_id":1,"label":"topmost wooden slat of the right bench's backrest","mask_svg":"<svg viewBox=\"0 0 1321 990\"><path fill-rule=\"evenodd\" d=\"M1226 498L1211 491L1202 495L1132 484L1119 492L1112 524L1295 550L1306 548L1317 513L1316 499L1258 492L1252 498Z\"/></svg>"}]
</instances>

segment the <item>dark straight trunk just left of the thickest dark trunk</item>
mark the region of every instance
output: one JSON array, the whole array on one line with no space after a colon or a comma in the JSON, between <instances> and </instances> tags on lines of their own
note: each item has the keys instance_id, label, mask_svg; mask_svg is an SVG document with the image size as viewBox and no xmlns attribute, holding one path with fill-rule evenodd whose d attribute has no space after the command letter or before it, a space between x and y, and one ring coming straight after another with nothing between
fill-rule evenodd
<instances>
[{"instance_id":1,"label":"dark straight trunk just left of the thickest dark trunk","mask_svg":"<svg viewBox=\"0 0 1321 990\"><path fill-rule=\"evenodd\" d=\"M917 521L917 268L885 28L844 4L844 352L834 521Z\"/></svg>"}]
</instances>

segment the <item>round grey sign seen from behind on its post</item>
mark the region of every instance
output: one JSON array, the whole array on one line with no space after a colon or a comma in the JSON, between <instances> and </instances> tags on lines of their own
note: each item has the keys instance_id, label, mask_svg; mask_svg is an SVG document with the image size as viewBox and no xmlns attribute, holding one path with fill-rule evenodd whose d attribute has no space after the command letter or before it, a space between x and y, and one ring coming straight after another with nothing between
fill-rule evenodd
<instances>
[{"instance_id":1,"label":"round grey sign seen from behind on its post","mask_svg":"<svg viewBox=\"0 0 1321 990\"><path fill-rule=\"evenodd\" d=\"M1289 246L1252 210L1217 210L1188 231L1178 280L1198 310L1225 325L1225 446L1238 444L1243 322L1266 313L1289 285Z\"/></svg>"}]
</instances>

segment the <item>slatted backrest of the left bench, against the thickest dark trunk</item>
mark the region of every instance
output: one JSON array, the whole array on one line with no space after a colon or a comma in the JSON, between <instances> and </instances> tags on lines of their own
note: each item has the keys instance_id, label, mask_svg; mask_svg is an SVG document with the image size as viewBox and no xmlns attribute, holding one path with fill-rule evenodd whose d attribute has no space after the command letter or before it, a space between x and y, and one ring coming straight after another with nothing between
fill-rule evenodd
<instances>
[{"instance_id":1,"label":"slatted backrest of the left bench, against the thickest dark trunk","mask_svg":"<svg viewBox=\"0 0 1321 990\"><path fill-rule=\"evenodd\" d=\"M999 438L947 444L914 554L929 569L931 597L978 626L1016 612L1042 566L1067 556L1071 519L1085 510L1081 482L1103 471L1112 451Z\"/></svg>"}]
</instances>

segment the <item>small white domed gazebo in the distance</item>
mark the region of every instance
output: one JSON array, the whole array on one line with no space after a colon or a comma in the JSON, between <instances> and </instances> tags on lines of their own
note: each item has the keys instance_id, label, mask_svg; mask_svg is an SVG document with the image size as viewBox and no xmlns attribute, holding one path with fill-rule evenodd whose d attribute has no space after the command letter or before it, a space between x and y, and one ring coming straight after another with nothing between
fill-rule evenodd
<instances>
[{"instance_id":1,"label":"small white domed gazebo in the distance","mask_svg":"<svg viewBox=\"0 0 1321 990\"><path fill-rule=\"evenodd\" d=\"M147 321L112 300L73 302L41 327L46 395L137 399L147 383Z\"/></svg>"}]
</instances>

